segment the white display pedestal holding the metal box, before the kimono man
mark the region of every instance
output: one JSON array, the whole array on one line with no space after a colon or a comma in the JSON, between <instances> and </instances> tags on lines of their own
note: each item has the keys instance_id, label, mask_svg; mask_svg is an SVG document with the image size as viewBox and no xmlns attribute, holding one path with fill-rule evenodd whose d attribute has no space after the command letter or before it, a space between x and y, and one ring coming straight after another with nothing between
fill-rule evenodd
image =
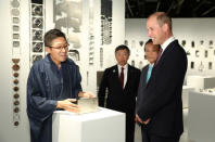
<instances>
[{"instance_id":1,"label":"white display pedestal holding the metal box, before the kimono man","mask_svg":"<svg viewBox=\"0 0 215 142\"><path fill-rule=\"evenodd\" d=\"M52 116L52 142L125 142L125 114L108 108L76 115L56 111Z\"/></svg>"}]
</instances>

